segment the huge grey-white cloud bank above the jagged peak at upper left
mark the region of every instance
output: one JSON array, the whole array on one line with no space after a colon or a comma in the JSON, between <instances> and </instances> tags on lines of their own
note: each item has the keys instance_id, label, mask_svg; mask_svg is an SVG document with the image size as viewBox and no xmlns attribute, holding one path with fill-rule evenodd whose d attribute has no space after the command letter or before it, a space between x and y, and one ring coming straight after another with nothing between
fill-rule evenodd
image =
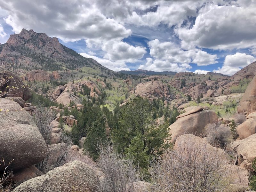
<instances>
[{"instance_id":1,"label":"huge grey-white cloud bank above the jagged peak at upper left","mask_svg":"<svg viewBox=\"0 0 256 192\"><path fill-rule=\"evenodd\" d=\"M132 33L85 0L65 3L61 0L35 0L33 4L29 0L0 0L0 4L9 13L5 22L12 26L15 33L22 28L33 29L63 41L91 39L96 41L96 46L108 40L120 41Z\"/></svg>"}]
</instances>

